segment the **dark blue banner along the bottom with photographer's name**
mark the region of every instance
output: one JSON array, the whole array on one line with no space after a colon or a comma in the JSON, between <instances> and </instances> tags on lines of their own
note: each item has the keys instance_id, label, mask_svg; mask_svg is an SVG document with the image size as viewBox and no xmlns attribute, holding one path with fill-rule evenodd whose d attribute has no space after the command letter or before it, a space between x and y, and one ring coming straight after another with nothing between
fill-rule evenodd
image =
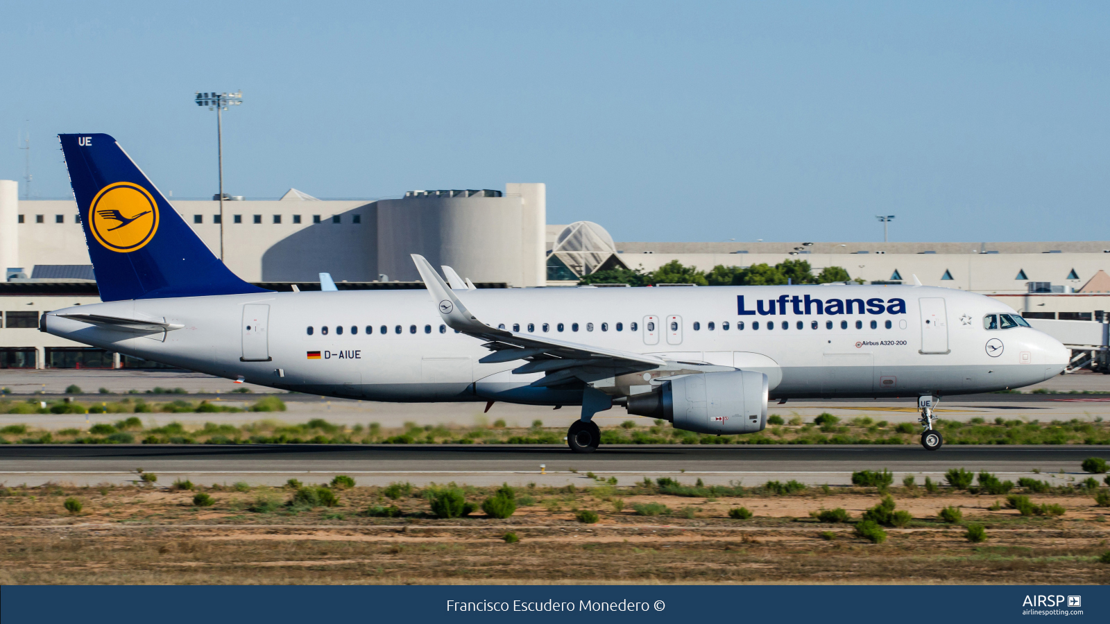
<instances>
[{"instance_id":1,"label":"dark blue banner along the bottom with photographer's name","mask_svg":"<svg viewBox=\"0 0 1110 624\"><path fill-rule=\"evenodd\" d=\"M1110 621L1110 587L1093 585L4 586L0 592L3 624Z\"/></svg>"}]
</instances>

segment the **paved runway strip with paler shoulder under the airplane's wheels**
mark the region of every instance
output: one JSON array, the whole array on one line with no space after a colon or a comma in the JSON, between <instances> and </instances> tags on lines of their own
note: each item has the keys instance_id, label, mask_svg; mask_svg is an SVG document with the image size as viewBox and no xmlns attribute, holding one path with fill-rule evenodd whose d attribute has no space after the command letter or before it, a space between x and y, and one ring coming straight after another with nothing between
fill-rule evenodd
<instances>
[{"instance_id":1,"label":"paved runway strip with paler shoulder under the airplane's wheels","mask_svg":"<svg viewBox=\"0 0 1110 624\"><path fill-rule=\"evenodd\" d=\"M616 476L623 485L662 475L689 484L697 479L707 484L745 485L796 479L815 485L847 485L852 471L865 469L889 469L896 483L914 474L920 484L927 475L942 483L948 469L966 467L997 473L1001 479L1035 476L1063 484L1089 476L1079 467L1089 456L1110 460L1110 449L947 446L928 452L919 446L868 445L609 445L589 455L576 455L565 447L522 445L11 445L0 446L0 482L121 484L138 480L135 470L141 467L158 474L160 485L169 485L178 477L205 485L238 481L281 485L287 479L321 483L335 474L347 474L362 485L454 481L472 485L533 482L589 486L595 481L587 472ZM541 473L542 464L546 474ZM1039 469L1040 474L1033 469Z\"/></svg>"}]
</instances>

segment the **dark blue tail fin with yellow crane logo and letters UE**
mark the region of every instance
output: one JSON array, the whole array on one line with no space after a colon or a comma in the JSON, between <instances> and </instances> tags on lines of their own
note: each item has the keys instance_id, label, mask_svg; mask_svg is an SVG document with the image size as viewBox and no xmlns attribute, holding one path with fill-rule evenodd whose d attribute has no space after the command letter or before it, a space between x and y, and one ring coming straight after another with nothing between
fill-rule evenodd
<instances>
[{"instance_id":1,"label":"dark blue tail fin with yellow crane logo and letters UE","mask_svg":"<svg viewBox=\"0 0 1110 624\"><path fill-rule=\"evenodd\" d=\"M59 134L102 301L269 292L232 273L108 134Z\"/></svg>"}]
</instances>

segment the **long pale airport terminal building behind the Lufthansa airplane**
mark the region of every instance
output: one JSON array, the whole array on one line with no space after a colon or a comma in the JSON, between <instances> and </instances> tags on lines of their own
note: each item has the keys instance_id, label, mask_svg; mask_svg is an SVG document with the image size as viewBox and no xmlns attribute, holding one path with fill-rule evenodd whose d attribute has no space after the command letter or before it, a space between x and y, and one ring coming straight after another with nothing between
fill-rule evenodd
<instances>
[{"instance_id":1,"label":"long pale airport terminal building behind the Lufthansa airplane","mask_svg":"<svg viewBox=\"0 0 1110 624\"><path fill-rule=\"evenodd\" d=\"M42 312L100 299L75 202L20 200L18 191L0 181L0 368L153 365L37 330ZM220 202L171 203L219 255ZM1092 322L1110 310L1110 242L616 242L589 221L548 225L543 183L375 201L290 189L280 200L225 198L223 207L224 261L273 290L319 288L322 272L341 290L422 288L411 253L480 288L573 286L595 271L652 271L673 260L705 271L803 259L815 273L841 266L872 284L917 280L983 293L1028 319Z\"/></svg>"}]
</instances>

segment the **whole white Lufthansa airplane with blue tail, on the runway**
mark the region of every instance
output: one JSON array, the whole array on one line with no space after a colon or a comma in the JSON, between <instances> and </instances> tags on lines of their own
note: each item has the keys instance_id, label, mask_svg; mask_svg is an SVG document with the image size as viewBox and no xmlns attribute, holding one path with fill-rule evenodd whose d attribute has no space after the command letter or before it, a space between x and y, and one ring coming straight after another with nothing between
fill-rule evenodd
<instances>
[{"instance_id":1,"label":"whole white Lufthansa airplane with blue tail, on the runway","mask_svg":"<svg viewBox=\"0 0 1110 624\"><path fill-rule=\"evenodd\" d=\"M593 417L614 406L730 435L763 431L769 401L917 397L921 445L936 451L942 396L1039 383L1069 358L1007 305L916 278L478 290L413 254L426 290L269 291L216 259L112 137L59 138L103 302L46 312L40 330L240 382L581 406L566 437L577 453L598 447ZM109 228L114 211L147 210Z\"/></svg>"}]
</instances>

